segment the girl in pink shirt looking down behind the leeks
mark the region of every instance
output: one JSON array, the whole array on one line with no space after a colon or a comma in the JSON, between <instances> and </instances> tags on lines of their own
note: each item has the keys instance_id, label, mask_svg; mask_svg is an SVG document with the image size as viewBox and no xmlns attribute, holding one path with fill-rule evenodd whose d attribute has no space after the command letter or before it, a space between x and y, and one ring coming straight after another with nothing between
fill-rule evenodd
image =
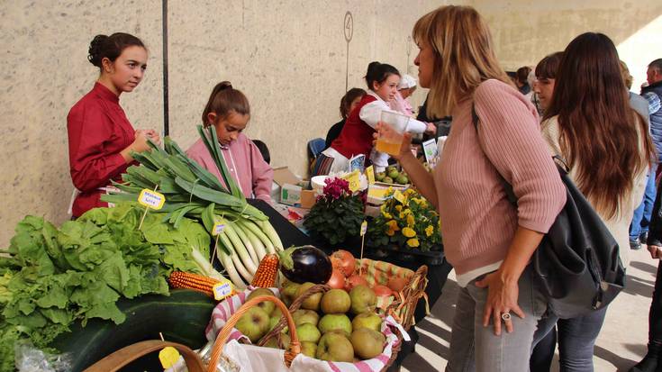
<instances>
[{"instance_id":1,"label":"girl in pink shirt looking down behind the leeks","mask_svg":"<svg viewBox=\"0 0 662 372\"><path fill-rule=\"evenodd\" d=\"M216 140L221 145L222 157L243 195L262 199L270 204L274 170L262 157L258 146L242 133L249 119L250 106L246 95L233 88L229 81L222 81L213 87L212 95L204 106L203 125L205 128L213 125L216 130ZM225 184L221 170L216 166L202 139L186 150L186 155Z\"/></svg>"}]
</instances>

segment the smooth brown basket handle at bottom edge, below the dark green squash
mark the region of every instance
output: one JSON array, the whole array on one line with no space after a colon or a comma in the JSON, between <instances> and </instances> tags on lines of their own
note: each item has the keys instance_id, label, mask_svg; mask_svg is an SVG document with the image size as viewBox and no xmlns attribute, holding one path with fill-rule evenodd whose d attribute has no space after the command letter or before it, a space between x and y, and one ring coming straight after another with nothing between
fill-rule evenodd
<instances>
[{"instance_id":1,"label":"smooth brown basket handle at bottom edge, below the dark green squash","mask_svg":"<svg viewBox=\"0 0 662 372\"><path fill-rule=\"evenodd\" d=\"M184 361L186 361L186 367L189 372L204 372L203 361L194 350L180 343L162 340L146 340L126 346L97 361L92 366L87 367L85 372L115 372L132 361L167 346L179 351L182 357L184 357Z\"/></svg>"}]
</instances>

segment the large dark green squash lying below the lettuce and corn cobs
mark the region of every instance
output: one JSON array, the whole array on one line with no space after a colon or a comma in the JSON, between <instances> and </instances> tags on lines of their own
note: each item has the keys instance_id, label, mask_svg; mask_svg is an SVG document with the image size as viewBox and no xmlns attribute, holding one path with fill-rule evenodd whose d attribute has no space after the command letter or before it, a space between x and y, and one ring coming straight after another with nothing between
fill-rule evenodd
<instances>
[{"instance_id":1,"label":"large dark green squash lying below the lettuce and corn cobs","mask_svg":"<svg viewBox=\"0 0 662 372\"><path fill-rule=\"evenodd\" d=\"M122 324L97 319L87 322L86 327L76 323L70 333L59 336L51 346L73 354L72 371L83 370L132 343L159 340L159 332L165 340L199 349L206 343L204 329L215 304L207 295L187 289L172 290L169 296L122 299L117 303L126 314Z\"/></svg>"}]
</instances>

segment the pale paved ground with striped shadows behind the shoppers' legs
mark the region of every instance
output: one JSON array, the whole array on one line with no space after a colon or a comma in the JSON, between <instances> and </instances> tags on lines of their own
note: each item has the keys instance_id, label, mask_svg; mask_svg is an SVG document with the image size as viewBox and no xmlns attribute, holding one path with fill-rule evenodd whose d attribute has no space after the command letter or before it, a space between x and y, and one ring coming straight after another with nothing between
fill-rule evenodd
<instances>
[{"instance_id":1,"label":"pale paved ground with striped shadows behind the shoppers' legs","mask_svg":"<svg viewBox=\"0 0 662 372\"><path fill-rule=\"evenodd\" d=\"M657 260L648 251L630 250L627 288L610 305L594 349L596 372L627 372L646 354L648 308L655 285ZM449 357L450 324L455 313L458 285L450 273L440 300L417 325L421 336L416 353L404 360L403 371L440 371ZM558 370L555 363L552 370Z\"/></svg>"}]
</instances>

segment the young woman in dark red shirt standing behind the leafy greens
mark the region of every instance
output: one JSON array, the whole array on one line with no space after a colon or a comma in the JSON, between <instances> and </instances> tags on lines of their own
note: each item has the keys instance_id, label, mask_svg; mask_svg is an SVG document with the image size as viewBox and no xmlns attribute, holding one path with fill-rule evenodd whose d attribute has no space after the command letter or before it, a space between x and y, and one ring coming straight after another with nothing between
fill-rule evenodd
<instances>
[{"instance_id":1,"label":"young woman in dark red shirt standing behind the leafy greens","mask_svg":"<svg viewBox=\"0 0 662 372\"><path fill-rule=\"evenodd\" d=\"M100 197L134 163L131 152L149 150L148 140L160 141L154 130L134 130L120 105L120 95L132 92L144 77L148 56L142 41L124 32L96 35L88 51L99 77L67 116L69 172L77 189L74 218L107 206Z\"/></svg>"}]
</instances>

